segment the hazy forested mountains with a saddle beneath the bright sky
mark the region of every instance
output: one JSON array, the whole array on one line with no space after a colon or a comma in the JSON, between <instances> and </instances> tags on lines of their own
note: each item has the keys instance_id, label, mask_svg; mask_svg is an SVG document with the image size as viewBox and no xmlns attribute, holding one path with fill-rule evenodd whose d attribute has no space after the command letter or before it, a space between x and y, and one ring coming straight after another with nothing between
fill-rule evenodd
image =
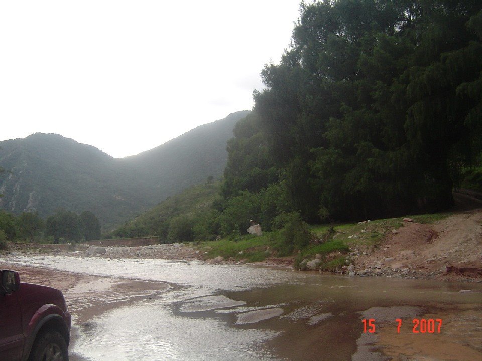
<instances>
[{"instance_id":1,"label":"hazy forested mountains with a saddle beneath the bright sky","mask_svg":"<svg viewBox=\"0 0 482 361\"><path fill-rule=\"evenodd\" d=\"M249 111L201 125L141 154L116 159L58 134L0 142L0 208L43 217L57 208L93 212L103 229L182 189L222 175L226 141Z\"/></svg>"}]
</instances>

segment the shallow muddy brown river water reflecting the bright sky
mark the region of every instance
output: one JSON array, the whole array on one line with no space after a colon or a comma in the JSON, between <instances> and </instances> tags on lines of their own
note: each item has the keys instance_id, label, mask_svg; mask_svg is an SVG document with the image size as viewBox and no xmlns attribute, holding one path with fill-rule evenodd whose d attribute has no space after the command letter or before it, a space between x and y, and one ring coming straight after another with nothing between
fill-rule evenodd
<instances>
[{"instance_id":1,"label":"shallow muddy brown river water reflecting the bright sky","mask_svg":"<svg viewBox=\"0 0 482 361\"><path fill-rule=\"evenodd\" d=\"M82 328L70 351L86 360L482 359L480 284L163 260L8 261L169 284ZM414 319L442 319L440 332L415 333Z\"/></svg>"}]
</instances>

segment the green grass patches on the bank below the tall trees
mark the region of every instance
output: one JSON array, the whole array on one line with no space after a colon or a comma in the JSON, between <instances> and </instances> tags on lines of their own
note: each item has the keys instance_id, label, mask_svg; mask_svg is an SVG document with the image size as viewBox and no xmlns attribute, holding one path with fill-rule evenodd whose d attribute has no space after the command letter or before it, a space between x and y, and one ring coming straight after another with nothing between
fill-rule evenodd
<instances>
[{"instance_id":1,"label":"green grass patches on the bank below the tall trees","mask_svg":"<svg viewBox=\"0 0 482 361\"><path fill-rule=\"evenodd\" d=\"M225 259L247 259L250 262L263 261L267 257L295 256L295 266L303 259L322 256L321 269L332 270L345 264L346 254L351 247L364 245L378 247L385 235L402 226L403 218L412 218L419 223L433 223L442 220L452 213L435 213L408 215L405 217L385 218L370 223L345 223L334 226L334 234L329 233L330 225L312 225L310 231L318 239L327 240L320 244L309 244L295 253L287 254L283 248L278 231L264 232L263 236L244 235L221 239L219 241L201 242L198 248L207 252L205 258L222 256ZM241 254L239 254L242 252ZM339 253L338 253L339 252Z\"/></svg>"}]
</instances>

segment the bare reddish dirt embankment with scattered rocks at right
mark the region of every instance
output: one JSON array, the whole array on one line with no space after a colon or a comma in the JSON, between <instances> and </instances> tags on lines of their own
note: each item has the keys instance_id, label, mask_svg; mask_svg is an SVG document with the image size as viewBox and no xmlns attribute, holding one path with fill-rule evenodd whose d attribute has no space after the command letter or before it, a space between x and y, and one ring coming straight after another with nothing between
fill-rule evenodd
<instances>
[{"instance_id":1,"label":"bare reddish dirt embankment with scattered rocks at right","mask_svg":"<svg viewBox=\"0 0 482 361\"><path fill-rule=\"evenodd\" d=\"M482 209L434 224L404 222L378 248L360 253L355 271L389 276L482 281Z\"/></svg>"}]
</instances>

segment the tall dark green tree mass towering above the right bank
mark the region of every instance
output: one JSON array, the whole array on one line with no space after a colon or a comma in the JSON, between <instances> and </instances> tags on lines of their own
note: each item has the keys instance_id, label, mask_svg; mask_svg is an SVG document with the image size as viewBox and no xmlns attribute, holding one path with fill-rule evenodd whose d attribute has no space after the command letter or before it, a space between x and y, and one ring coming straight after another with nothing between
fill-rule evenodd
<instances>
[{"instance_id":1,"label":"tall dark green tree mass towering above the right bank","mask_svg":"<svg viewBox=\"0 0 482 361\"><path fill-rule=\"evenodd\" d=\"M482 149L481 7L302 3L228 143L224 197L280 182L285 208L312 221L320 209L366 219L450 207Z\"/></svg>"}]
</instances>

